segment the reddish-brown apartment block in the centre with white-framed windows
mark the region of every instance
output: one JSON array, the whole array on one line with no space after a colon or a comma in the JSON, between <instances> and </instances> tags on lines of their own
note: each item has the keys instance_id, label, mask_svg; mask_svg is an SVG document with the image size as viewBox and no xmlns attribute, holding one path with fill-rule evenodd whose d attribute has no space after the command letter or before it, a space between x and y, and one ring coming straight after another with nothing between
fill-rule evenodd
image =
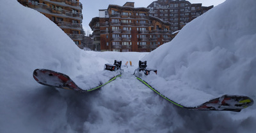
<instances>
[{"instance_id":1,"label":"reddish-brown apartment block in the centre with white-framed windows","mask_svg":"<svg viewBox=\"0 0 256 133\"><path fill-rule=\"evenodd\" d=\"M148 8L109 4L92 18L93 44L99 51L150 52L171 41L170 22L149 15Z\"/></svg>"}]
</instances>

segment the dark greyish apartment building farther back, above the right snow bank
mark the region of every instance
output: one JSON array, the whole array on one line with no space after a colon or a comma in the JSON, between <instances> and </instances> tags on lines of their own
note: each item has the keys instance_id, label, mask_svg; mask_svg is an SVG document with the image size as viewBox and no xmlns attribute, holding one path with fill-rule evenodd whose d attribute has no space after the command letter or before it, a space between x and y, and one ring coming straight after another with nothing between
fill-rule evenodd
<instances>
[{"instance_id":1,"label":"dark greyish apartment building farther back, above the right snow bank","mask_svg":"<svg viewBox=\"0 0 256 133\"><path fill-rule=\"evenodd\" d=\"M179 31L191 20L202 15L213 6L191 4L185 0L157 0L147 6L149 15L171 23L172 32Z\"/></svg>"}]
</instances>

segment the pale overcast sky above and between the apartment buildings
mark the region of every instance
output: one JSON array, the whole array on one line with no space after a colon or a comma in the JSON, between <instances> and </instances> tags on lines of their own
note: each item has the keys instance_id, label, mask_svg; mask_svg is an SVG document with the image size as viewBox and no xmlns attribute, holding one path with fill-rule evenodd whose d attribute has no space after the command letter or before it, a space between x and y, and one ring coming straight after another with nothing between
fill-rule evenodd
<instances>
[{"instance_id":1,"label":"pale overcast sky above and between the apartment buildings","mask_svg":"<svg viewBox=\"0 0 256 133\"><path fill-rule=\"evenodd\" d=\"M83 29L86 32L92 32L89 23L93 17L99 17L99 10L107 9L109 4L123 6L126 2L134 2L135 8L147 7L156 0L80 0L83 4ZM202 3L203 6L217 6L226 0L188 0L190 3Z\"/></svg>"}]
</instances>

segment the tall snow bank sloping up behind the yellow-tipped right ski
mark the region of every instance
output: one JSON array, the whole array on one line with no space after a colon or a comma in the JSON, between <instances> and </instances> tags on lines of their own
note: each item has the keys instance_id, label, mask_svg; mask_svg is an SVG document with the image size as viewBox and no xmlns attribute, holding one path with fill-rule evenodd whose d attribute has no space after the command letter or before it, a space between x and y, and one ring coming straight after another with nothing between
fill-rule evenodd
<instances>
[{"instance_id":1,"label":"tall snow bank sloping up behind the yellow-tipped right ski","mask_svg":"<svg viewBox=\"0 0 256 133\"><path fill-rule=\"evenodd\" d=\"M216 94L256 94L256 3L227 0L147 57L166 80Z\"/></svg>"}]
</instances>

